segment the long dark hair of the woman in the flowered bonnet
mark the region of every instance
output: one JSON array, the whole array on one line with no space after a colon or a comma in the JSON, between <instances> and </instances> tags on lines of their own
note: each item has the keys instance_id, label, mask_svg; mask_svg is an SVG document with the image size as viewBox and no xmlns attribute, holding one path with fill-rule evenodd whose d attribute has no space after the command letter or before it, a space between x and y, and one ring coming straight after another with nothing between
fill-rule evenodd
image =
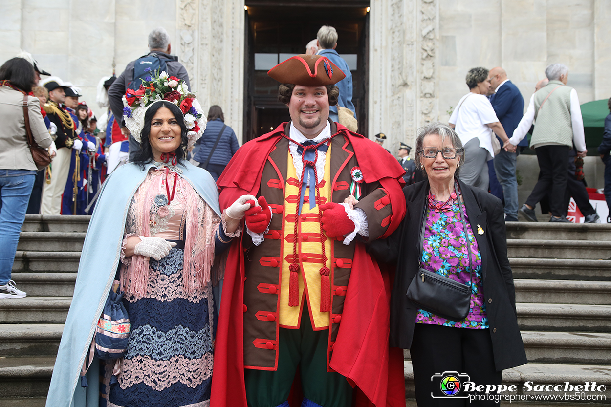
<instances>
[{"instance_id":1,"label":"long dark hair of the woman in the flowered bonnet","mask_svg":"<svg viewBox=\"0 0 611 407\"><path fill-rule=\"evenodd\" d=\"M180 125L180 145L174 152L176 154L176 161L179 164L182 164L185 160L185 156L187 153L187 127L185 125L185 118L183 116L183 112L180 108L174 103L169 102L167 100L162 100L156 103L153 103L150 108L148 108L147 112L144 114L144 127L142 127L141 141L140 141L140 149L136 152L136 156L134 157L134 164L139 164L142 169L144 169L144 165L153 161L153 150L151 148L150 141L148 140L148 134L151 131L151 122L153 117L155 117L155 113L161 109L167 108L170 109L170 112L174 115L174 118L178 120L178 125Z\"/></svg>"}]
</instances>

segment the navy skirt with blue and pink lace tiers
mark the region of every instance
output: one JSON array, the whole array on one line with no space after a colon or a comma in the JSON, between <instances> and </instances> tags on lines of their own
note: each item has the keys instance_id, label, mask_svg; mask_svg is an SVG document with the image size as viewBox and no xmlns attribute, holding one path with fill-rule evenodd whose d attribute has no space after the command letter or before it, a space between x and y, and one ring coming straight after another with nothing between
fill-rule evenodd
<instances>
[{"instance_id":1,"label":"navy skirt with blue and pink lace tiers","mask_svg":"<svg viewBox=\"0 0 611 407\"><path fill-rule=\"evenodd\" d=\"M150 260L147 293L129 293L131 334L109 406L200 407L210 402L213 347L211 287L184 290L182 249ZM106 376L112 372L107 367ZM108 383L108 382L106 382Z\"/></svg>"}]
</instances>

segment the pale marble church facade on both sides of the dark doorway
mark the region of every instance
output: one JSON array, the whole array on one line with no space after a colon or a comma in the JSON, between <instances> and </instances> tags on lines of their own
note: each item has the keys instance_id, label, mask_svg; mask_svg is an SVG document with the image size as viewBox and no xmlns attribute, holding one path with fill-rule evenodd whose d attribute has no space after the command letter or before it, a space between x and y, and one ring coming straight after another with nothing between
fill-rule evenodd
<instances>
[{"instance_id":1,"label":"pale marble church facade on both sides of the dark doorway","mask_svg":"<svg viewBox=\"0 0 611 407\"><path fill-rule=\"evenodd\" d=\"M544 68L568 65L580 102L611 96L611 0L371 0L369 134L387 149L446 121L468 89L467 70L507 70L527 102ZM202 106L221 105L241 142L243 0L13 0L0 4L0 57L20 49L81 87L93 110L102 76L147 53L164 26Z\"/></svg>"}]
</instances>

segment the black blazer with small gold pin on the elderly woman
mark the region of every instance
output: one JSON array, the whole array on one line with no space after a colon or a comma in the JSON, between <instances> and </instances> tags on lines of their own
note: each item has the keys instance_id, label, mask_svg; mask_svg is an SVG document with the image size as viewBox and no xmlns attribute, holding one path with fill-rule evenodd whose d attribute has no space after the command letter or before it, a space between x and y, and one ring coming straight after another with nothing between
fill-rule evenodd
<instances>
[{"instance_id":1,"label":"black blazer with small gold pin on the elderly woman","mask_svg":"<svg viewBox=\"0 0 611 407\"><path fill-rule=\"evenodd\" d=\"M467 217L481 253L483 295L497 371L527 362L518 328L513 274L507 259L505 219L500 200L479 188L459 181ZM418 307L406 296L419 270L420 227L429 191L428 180L403 188L407 213L398 229L386 240L371 242L368 251L382 262L396 263L390 299L390 346L409 349ZM478 226L484 230L477 233Z\"/></svg>"}]
</instances>

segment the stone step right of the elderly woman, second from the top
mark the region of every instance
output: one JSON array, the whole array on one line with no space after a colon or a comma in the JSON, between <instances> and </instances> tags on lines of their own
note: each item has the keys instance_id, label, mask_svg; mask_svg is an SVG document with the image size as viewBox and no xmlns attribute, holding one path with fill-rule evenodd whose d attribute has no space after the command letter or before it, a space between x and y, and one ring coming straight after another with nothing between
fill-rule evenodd
<instances>
[{"instance_id":1,"label":"stone step right of the elderly woman, second from the top","mask_svg":"<svg viewBox=\"0 0 611 407\"><path fill-rule=\"evenodd\" d=\"M508 257L611 260L611 240L507 239Z\"/></svg>"}]
</instances>

